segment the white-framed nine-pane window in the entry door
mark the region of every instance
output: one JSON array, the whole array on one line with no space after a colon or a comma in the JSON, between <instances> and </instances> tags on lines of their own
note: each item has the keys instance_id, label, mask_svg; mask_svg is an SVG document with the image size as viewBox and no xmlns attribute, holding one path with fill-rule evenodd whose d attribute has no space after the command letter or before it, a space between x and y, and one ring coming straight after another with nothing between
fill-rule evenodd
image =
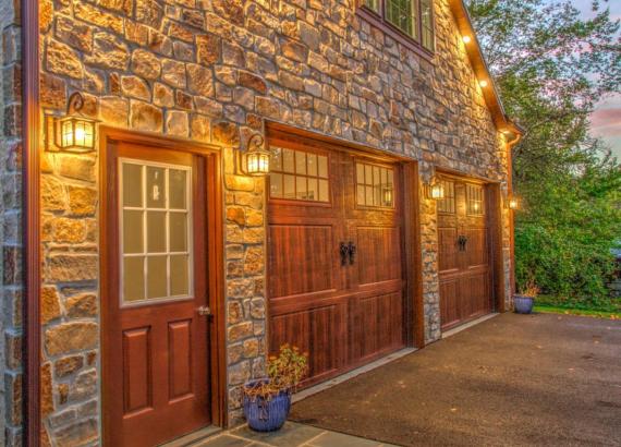
<instances>
[{"instance_id":1,"label":"white-framed nine-pane window in the entry door","mask_svg":"<svg viewBox=\"0 0 621 447\"><path fill-rule=\"evenodd\" d=\"M120 160L121 304L193 290L190 185L188 167Z\"/></svg>"}]
</instances>

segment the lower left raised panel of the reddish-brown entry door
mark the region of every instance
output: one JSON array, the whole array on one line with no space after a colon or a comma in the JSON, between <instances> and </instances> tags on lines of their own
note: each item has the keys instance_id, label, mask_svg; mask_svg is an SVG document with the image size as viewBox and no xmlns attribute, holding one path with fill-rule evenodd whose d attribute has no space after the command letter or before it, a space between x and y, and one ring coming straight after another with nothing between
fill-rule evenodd
<instances>
[{"instance_id":1,"label":"lower left raised panel of the reddish-brown entry door","mask_svg":"<svg viewBox=\"0 0 621 447\"><path fill-rule=\"evenodd\" d=\"M153 406L151 330L139 327L123 331L123 414Z\"/></svg>"}]
</instances>

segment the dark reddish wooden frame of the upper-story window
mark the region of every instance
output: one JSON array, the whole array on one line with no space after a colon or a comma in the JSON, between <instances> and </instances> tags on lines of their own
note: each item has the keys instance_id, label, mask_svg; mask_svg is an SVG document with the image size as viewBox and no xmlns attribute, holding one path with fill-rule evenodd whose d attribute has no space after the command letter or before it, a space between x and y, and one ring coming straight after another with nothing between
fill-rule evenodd
<instances>
[{"instance_id":1,"label":"dark reddish wooden frame of the upper-story window","mask_svg":"<svg viewBox=\"0 0 621 447\"><path fill-rule=\"evenodd\" d=\"M364 4L364 0L357 0L356 7L356 14L362 17L364 21L368 22L372 26L380 29L401 45L405 46L406 48L414 51L416 55L422 56L427 60L431 60L435 55L436 50L436 14L434 12L434 0L431 2L431 31L433 37L431 40L434 43L434 49L428 49L423 46L423 11L421 7L419 0L416 1L416 7L418 9L417 12L417 22L416 22L416 29L417 29L417 38L414 38L392 23L390 23L386 19L386 1L387 0L378 0L379 1L379 12L372 10L370 8Z\"/></svg>"}]
</instances>

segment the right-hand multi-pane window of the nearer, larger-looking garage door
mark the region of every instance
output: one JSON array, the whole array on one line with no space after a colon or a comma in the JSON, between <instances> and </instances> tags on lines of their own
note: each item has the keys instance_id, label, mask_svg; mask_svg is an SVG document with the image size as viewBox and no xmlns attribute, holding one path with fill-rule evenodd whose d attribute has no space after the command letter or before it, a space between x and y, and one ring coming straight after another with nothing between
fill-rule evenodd
<instances>
[{"instance_id":1,"label":"right-hand multi-pane window of the nearer, larger-looking garage door","mask_svg":"<svg viewBox=\"0 0 621 447\"><path fill-rule=\"evenodd\" d=\"M394 171L385 166L356 162L356 204L392 208L394 203Z\"/></svg>"}]
</instances>

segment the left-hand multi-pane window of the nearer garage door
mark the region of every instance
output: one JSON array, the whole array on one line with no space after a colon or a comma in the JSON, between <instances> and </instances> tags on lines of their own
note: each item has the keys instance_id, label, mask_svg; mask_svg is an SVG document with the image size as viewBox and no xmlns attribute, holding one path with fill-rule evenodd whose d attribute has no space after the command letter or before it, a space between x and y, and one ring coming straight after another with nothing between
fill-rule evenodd
<instances>
[{"instance_id":1,"label":"left-hand multi-pane window of the nearer garage door","mask_svg":"<svg viewBox=\"0 0 621 447\"><path fill-rule=\"evenodd\" d=\"M269 170L271 198L330 202L327 155L272 147Z\"/></svg>"}]
</instances>

